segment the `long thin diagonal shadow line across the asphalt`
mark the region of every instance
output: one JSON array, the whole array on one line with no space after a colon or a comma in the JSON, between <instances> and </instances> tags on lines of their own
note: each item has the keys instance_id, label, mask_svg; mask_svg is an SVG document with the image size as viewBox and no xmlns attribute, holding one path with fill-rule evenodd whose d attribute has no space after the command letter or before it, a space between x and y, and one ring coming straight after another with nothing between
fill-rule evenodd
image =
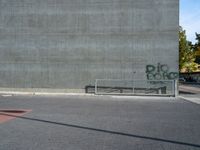
<instances>
[{"instance_id":1,"label":"long thin diagonal shadow line across the asphalt","mask_svg":"<svg viewBox=\"0 0 200 150\"><path fill-rule=\"evenodd\" d=\"M142 136L142 135L136 135L136 134L129 134L129 133L123 133L123 132L117 132L117 131L111 131L111 130L96 129L96 128L91 128L91 127L84 127L84 126L79 126L79 125L66 124L66 123L60 123L60 122L54 122L54 121L48 121L48 120L42 120L42 119L36 119L36 118L15 116L15 115L4 114L4 113L0 113L0 114L6 115L6 116L16 117L16 118L20 118L20 119L26 119L26 120L30 120L30 121L38 121L38 122L60 125L60 126L66 126L66 127L72 127L72 128L78 128L78 129L84 129L84 130L90 130L90 131L96 131L96 132L103 132L103 133L108 133L108 134L115 134L115 135L120 135L120 136L127 136L127 137L132 137L132 138L140 138L140 139L145 139L145 140L152 140L152 141L165 142L165 143L171 143L171 144L178 144L178 145L200 148L200 145L193 144L193 143L185 143L185 142L180 142L180 141L174 141L174 140L168 140L168 139L162 139L162 138L156 138L156 137L149 137L149 136Z\"/></svg>"}]
</instances>

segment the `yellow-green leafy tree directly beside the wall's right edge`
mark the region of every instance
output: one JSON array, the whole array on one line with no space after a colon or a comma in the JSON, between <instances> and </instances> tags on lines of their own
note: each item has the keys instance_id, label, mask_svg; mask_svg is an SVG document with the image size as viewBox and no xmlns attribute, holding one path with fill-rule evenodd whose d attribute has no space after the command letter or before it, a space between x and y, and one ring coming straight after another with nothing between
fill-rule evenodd
<instances>
[{"instance_id":1,"label":"yellow-green leafy tree directly beside the wall's right edge","mask_svg":"<svg viewBox=\"0 0 200 150\"><path fill-rule=\"evenodd\" d=\"M198 69L195 61L195 52L192 43L187 41L185 30L179 28L179 70L180 72L193 72Z\"/></svg>"}]
</instances>

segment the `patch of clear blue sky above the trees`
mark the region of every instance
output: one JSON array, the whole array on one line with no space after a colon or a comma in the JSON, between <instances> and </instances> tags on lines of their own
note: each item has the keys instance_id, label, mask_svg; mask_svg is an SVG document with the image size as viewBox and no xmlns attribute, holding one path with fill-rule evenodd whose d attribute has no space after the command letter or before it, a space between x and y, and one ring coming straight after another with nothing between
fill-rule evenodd
<instances>
[{"instance_id":1,"label":"patch of clear blue sky above the trees","mask_svg":"<svg viewBox=\"0 0 200 150\"><path fill-rule=\"evenodd\" d=\"M195 32L200 34L200 0L180 0L180 25L194 43Z\"/></svg>"}]
</instances>

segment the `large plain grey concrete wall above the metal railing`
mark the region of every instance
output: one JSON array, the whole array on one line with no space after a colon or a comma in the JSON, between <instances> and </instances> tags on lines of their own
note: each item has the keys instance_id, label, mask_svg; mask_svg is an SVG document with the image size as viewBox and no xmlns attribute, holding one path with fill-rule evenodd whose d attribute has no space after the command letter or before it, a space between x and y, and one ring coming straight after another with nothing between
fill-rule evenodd
<instances>
[{"instance_id":1,"label":"large plain grey concrete wall above the metal railing","mask_svg":"<svg viewBox=\"0 0 200 150\"><path fill-rule=\"evenodd\" d=\"M82 89L99 78L146 80L148 65L176 73L178 5L0 0L0 87Z\"/></svg>"}]
</instances>

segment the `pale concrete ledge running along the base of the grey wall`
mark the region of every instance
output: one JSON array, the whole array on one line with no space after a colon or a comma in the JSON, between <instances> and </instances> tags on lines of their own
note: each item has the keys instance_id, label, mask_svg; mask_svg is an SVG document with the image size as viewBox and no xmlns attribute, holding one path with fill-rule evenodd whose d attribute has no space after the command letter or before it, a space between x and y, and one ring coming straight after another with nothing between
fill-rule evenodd
<instances>
[{"instance_id":1,"label":"pale concrete ledge running along the base of the grey wall","mask_svg":"<svg viewBox=\"0 0 200 150\"><path fill-rule=\"evenodd\" d=\"M136 100L136 99L166 99L176 100L176 97L163 97L163 96L144 96L144 95L95 95L85 93L84 89L44 89L44 88L0 88L0 95L13 96L13 95L31 95L31 96L93 96L99 97L103 100L105 97L110 97L115 100Z\"/></svg>"}]
</instances>

